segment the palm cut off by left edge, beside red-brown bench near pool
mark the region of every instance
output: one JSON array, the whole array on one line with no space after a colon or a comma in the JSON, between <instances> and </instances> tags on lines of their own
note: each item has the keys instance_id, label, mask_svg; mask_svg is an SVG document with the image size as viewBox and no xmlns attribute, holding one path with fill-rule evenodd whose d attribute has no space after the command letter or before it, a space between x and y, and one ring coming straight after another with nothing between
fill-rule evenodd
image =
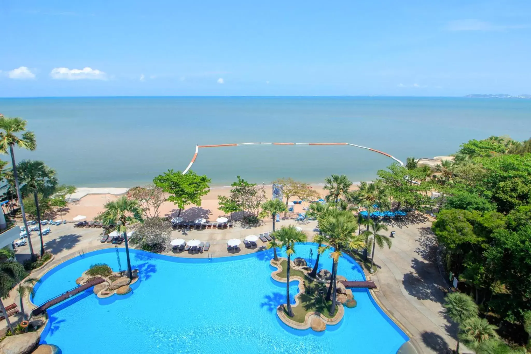
<instances>
[{"instance_id":1,"label":"palm cut off by left edge, beside red-brown bench near pool","mask_svg":"<svg viewBox=\"0 0 531 354\"><path fill-rule=\"evenodd\" d=\"M16 283L15 279L21 279L25 276L24 266L15 261L15 253L5 248L0 248L0 309L4 315L7 326L11 333L15 334L13 325L7 316L2 299L9 297L9 292Z\"/></svg>"}]
</instances>

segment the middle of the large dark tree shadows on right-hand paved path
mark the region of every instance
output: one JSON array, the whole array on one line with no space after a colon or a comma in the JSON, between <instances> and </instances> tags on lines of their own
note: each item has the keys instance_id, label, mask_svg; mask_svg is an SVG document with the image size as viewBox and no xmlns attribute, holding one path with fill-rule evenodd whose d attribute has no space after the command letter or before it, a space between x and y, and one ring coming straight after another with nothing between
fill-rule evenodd
<instances>
[{"instance_id":1,"label":"middle of the large dark tree shadows on right-hand paved path","mask_svg":"<svg viewBox=\"0 0 531 354\"><path fill-rule=\"evenodd\" d=\"M404 274L402 284L409 295L419 300L431 300L442 303L444 299L444 287L441 275L433 263L423 262L416 258L412 261L414 272Z\"/></svg>"}]
</instances>

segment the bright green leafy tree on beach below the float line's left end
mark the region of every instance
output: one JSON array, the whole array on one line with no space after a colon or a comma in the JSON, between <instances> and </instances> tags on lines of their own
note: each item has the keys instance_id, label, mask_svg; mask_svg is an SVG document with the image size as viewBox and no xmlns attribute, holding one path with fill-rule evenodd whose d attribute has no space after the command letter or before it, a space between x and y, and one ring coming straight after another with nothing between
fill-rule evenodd
<instances>
[{"instance_id":1,"label":"bright green leafy tree on beach below the float line's left end","mask_svg":"<svg viewBox=\"0 0 531 354\"><path fill-rule=\"evenodd\" d=\"M153 179L153 183L157 187L171 194L168 201L178 206L179 213L177 215L181 215L181 211L186 205L201 206L201 197L210 191L210 182L212 182L210 178L205 175L199 176L192 170L184 175L181 171L168 170L168 172L164 172L164 174Z\"/></svg>"}]
</instances>

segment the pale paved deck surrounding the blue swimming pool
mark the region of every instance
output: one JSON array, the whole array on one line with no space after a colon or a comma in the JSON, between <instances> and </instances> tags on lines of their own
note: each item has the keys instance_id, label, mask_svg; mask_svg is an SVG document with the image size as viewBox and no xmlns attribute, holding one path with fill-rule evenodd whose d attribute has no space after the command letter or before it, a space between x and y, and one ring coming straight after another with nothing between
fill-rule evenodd
<instances>
[{"instance_id":1,"label":"pale paved deck surrounding the blue swimming pool","mask_svg":"<svg viewBox=\"0 0 531 354\"><path fill-rule=\"evenodd\" d=\"M442 299L444 280L435 263L436 240L430 227L433 219L424 214L408 215L404 221L388 223L389 232L396 231L391 249L376 249L375 264L378 266L376 274L371 280L378 285L375 291L376 299L382 304L391 317L395 318L406 330L411 343L418 353L444 353L456 346L455 339L450 333L455 333L455 325L447 320L443 314ZM52 267L60 264L80 253L87 253L96 249L113 247L112 244L101 244L101 229L74 228L73 223L50 226L51 234L44 237L45 249L54 254L54 260L41 269L32 273L32 277L40 277ZM303 228L311 239L315 234L316 221L297 222L295 220L281 220L276 227L297 225ZM172 232L172 238L209 241L208 252L189 254L187 252L168 252L168 255L179 257L224 257L256 252L264 247L260 240L258 247L247 249L243 243L238 252L227 252L228 239L242 239L248 235L259 235L272 230L271 221L264 222L259 227L242 228L238 225L234 229L225 230L193 230ZM40 250L40 242L36 232L32 232L31 240L35 252ZM124 247L122 244L119 247ZM17 248L16 257L19 261L29 258L28 246ZM18 297L15 291L4 300L10 305ZM25 311L29 313L32 305L25 302ZM22 320L21 315L11 317L13 323ZM0 321L0 327L6 326L5 320ZM461 352L467 352L465 348Z\"/></svg>"}]
</instances>

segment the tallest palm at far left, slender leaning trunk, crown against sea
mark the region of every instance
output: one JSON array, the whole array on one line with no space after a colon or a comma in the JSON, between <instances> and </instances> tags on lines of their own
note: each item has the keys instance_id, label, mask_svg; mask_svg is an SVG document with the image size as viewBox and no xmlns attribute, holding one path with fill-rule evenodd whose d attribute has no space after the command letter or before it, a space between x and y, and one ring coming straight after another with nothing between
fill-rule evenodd
<instances>
[{"instance_id":1,"label":"tallest palm at far left, slender leaning trunk, crown against sea","mask_svg":"<svg viewBox=\"0 0 531 354\"><path fill-rule=\"evenodd\" d=\"M19 148L34 151L37 149L37 143L35 142L35 134L30 131L26 131L26 121L20 118L6 118L0 116L0 152L11 154L11 164L13 167L13 179L15 180L16 195L19 198L20 211L22 212L22 220L24 221L24 228L28 234L28 244L30 246L30 255L34 259L33 246L31 245L30 230L28 228L28 222L26 221L26 214L24 212L24 203L22 202L22 194L20 193L19 177L16 171L15 152L13 146L16 144ZM18 136L16 133L21 133Z\"/></svg>"}]
</instances>

